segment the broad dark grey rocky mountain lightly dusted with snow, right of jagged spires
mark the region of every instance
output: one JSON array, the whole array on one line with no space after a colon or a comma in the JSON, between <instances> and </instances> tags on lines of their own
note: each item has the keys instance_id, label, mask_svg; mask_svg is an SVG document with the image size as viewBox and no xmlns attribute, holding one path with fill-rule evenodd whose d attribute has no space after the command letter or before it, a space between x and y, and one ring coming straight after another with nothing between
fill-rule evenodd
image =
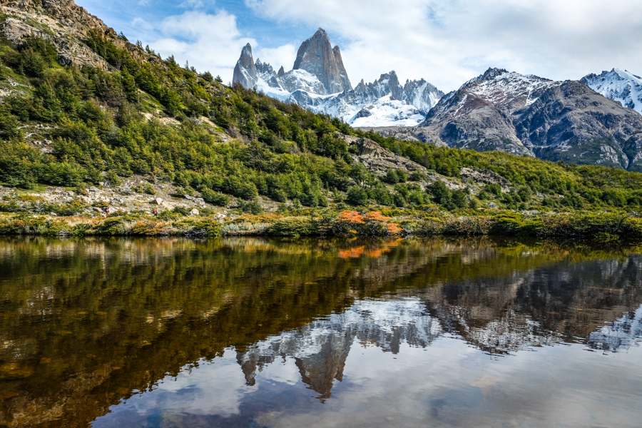
<instances>
[{"instance_id":1,"label":"broad dark grey rocky mountain lightly dusted with snow, right of jagged spires","mask_svg":"<svg viewBox=\"0 0 642 428\"><path fill-rule=\"evenodd\" d=\"M642 116L579 81L489 68L419 128L424 141L449 147L642 171Z\"/></svg>"}]
</instances>

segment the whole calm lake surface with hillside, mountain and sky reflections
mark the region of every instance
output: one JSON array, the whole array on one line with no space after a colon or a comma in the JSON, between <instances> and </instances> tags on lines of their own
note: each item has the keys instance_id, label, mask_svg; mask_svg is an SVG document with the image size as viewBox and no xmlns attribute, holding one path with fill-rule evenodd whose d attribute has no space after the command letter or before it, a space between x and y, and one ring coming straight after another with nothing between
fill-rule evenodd
<instances>
[{"instance_id":1,"label":"whole calm lake surface with hillside, mountain and sky reflections","mask_svg":"<svg viewBox=\"0 0 642 428\"><path fill-rule=\"evenodd\" d=\"M0 238L0 427L640 427L641 254Z\"/></svg>"}]
</instances>

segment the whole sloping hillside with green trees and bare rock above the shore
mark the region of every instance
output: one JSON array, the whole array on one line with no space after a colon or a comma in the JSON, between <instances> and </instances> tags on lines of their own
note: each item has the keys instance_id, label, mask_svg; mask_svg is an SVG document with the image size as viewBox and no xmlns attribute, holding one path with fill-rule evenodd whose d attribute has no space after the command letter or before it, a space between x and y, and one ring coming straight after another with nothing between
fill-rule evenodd
<instances>
[{"instance_id":1,"label":"whole sloping hillside with green trees and bare rock above the shore","mask_svg":"<svg viewBox=\"0 0 642 428\"><path fill-rule=\"evenodd\" d=\"M0 4L4 211L641 209L639 173L365 133L163 59L73 1Z\"/></svg>"}]
</instances>

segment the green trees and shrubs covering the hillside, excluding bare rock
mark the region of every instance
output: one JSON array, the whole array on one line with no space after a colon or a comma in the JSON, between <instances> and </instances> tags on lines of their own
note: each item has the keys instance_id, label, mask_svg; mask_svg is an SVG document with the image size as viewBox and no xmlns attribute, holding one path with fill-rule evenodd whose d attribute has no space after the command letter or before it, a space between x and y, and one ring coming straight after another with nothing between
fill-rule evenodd
<instances>
[{"instance_id":1,"label":"green trees and shrubs covering the hillside, excluding bare rock","mask_svg":"<svg viewBox=\"0 0 642 428\"><path fill-rule=\"evenodd\" d=\"M287 203L295 217L310 208L327 208L339 218L347 203L358 215L389 211L393 217L423 218L434 225L441 220L430 223L426 215L496 219L504 210L536 210L539 218L554 218L558 212L572 217L576 210L600 210L609 213L606 217L636 218L642 210L639 173L397 141L263 93L224 86L220 78L179 66L173 56L163 60L140 44L120 49L96 32L85 42L106 60L109 71L58 66L56 49L44 39L26 39L21 46L1 41L0 86L13 83L0 105L4 185L22 190L97 183L116 187L136 174L150 183L172 183L185 194L198 193L211 205L237 208L239 213L260 214L261 196ZM459 188L403 170L377 176L355 161L355 147L337 133L371 138L428 172L454 180ZM51 143L43 150L34 141ZM491 170L509 180L511 188L466 183L462 167ZM141 188L154 195L150 183ZM7 201L1 209L11 211L10 205ZM76 215L79 208L29 212ZM283 223L271 230L280 227L290 230ZM309 234L305 230L292 233ZM428 233L425 228L413 230Z\"/></svg>"}]
</instances>

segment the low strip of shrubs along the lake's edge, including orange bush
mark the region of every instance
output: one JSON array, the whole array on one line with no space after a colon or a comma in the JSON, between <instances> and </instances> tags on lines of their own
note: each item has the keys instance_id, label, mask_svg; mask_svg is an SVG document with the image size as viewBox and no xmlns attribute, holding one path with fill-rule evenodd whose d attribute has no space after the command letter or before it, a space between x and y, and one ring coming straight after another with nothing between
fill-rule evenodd
<instances>
[{"instance_id":1,"label":"low strip of shrubs along the lake's edge, including orange bush","mask_svg":"<svg viewBox=\"0 0 642 428\"><path fill-rule=\"evenodd\" d=\"M275 213L161 219L149 215L53 217L29 213L0 214L0 235L43 236L519 236L530 238L642 238L642 217L630 213L499 213L481 215L407 215L386 217L378 211L344 210L311 215Z\"/></svg>"}]
</instances>

